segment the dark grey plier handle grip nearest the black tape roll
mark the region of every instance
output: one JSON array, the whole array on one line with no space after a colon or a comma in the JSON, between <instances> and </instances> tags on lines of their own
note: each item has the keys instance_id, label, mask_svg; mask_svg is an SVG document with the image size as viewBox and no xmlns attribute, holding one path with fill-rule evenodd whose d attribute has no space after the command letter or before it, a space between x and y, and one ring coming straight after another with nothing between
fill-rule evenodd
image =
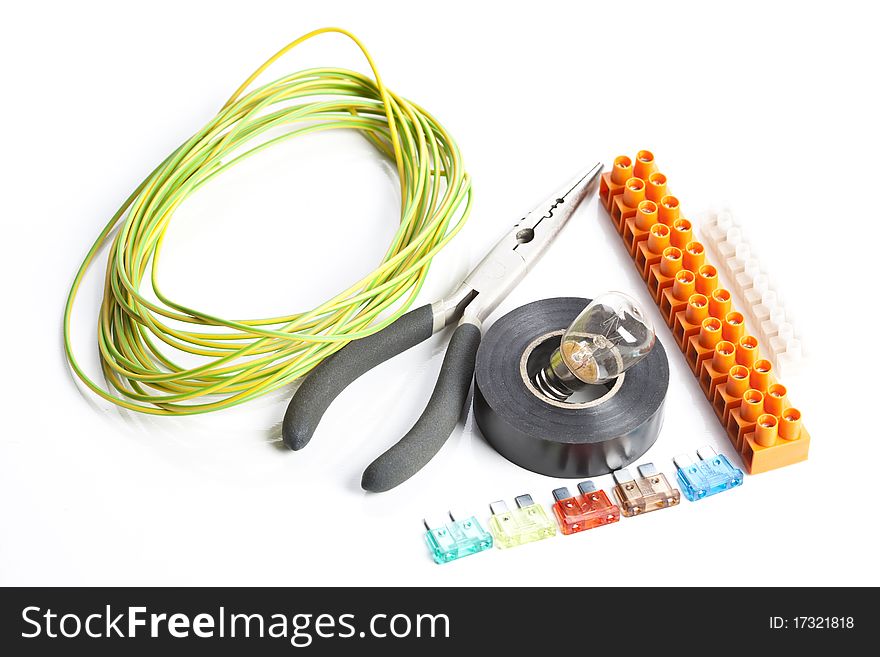
<instances>
[{"instance_id":1,"label":"dark grey plier handle grip nearest the black tape roll","mask_svg":"<svg viewBox=\"0 0 880 657\"><path fill-rule=\"evenodd\" d=\"M412 429L364 471L361 487L381 493L399 486L440 451L461 415L474 376L482 333L461 324L452 334L428 405Z\"/></svg>"}]
</instances>

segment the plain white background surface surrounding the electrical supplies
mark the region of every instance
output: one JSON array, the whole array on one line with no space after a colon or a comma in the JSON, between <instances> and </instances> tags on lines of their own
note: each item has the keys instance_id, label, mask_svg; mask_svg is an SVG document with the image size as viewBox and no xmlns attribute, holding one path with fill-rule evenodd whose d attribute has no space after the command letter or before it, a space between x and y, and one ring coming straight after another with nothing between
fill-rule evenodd
<instances>
[{"instance_id":1,"label":"plain white background surface surrounding the electrical supplies","mask_svg":"<svg viewBox=\"0 0 880 657\"><path fill-rule=\"evenodd\" d=\"M859 5L868 3L7 7L0 582L880 584L878 17ZM100 227L253 68L330 24L363 39L386 83L441 119L473 176L472 218L435 260L425 302L574 171L650 148L686 215L732 204L784 296L810 352L805 375L788 382L812 434L809 461L698 503L440 567L423 545L423 516L451 507L483 518L490 501L525 492L549 504L553 488L577 483L508 463L469 417L410 482L360 490L364 466L430 395L446 335L352 385L299 453L278 444L289 391L184 419L120 412L82 392L60 318ZM365 70L353 45L328 36L270 75L311 65ZM356 135L267 152L181 208L164 289L226 316L305 310L379 260L396 185ZM92 372L101 268L74 317ZM593 201L492 319L608 289L649 304ZM732 456L670 333L658 331L672 380L644 460L671 475L671 457L702 444Z\"/></svg>"}]
</instances>

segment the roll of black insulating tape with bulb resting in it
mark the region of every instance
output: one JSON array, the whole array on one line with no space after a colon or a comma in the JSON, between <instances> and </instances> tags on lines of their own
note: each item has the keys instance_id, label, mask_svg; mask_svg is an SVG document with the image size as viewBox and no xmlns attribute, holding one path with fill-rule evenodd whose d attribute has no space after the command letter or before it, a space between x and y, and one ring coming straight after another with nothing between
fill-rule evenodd
<instances>
[{"instance_id":1,"label":"roll of black insulating tape with bulb resting in it","mask_svg":"<svg viewBox=\"0 0 880 657\"><path fill-rule=\"evenodd\" d=\"M477 352L474 418L483 436L508 460L551 477L622 468L648 451L663 423L669 363L659 341L604 390L594 389L592 400L558 402L531 383L589 301L521 306L492 325Z\"/></svg>"}]
</instances>

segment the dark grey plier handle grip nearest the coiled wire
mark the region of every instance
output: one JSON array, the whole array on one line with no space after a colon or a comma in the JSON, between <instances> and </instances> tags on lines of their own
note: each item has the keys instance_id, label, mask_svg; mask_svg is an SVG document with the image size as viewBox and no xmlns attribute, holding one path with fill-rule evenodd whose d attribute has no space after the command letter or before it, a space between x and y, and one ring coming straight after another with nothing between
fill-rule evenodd
<instances>
[{"instance_id":1,"label":"dark grey plier handle grip nearest the coiled wire","mask_svg":"<svg viewBox=\"0 0 880 657\"><path fill-rule=\"evenodd\" d=\"M306 377L293 395L281 437L290 449L302 449L340 392L376 365L424 342L434 332L431 304L409 311L373 335L349 342L326 358Z\"/></svg>"}]
</instances>

